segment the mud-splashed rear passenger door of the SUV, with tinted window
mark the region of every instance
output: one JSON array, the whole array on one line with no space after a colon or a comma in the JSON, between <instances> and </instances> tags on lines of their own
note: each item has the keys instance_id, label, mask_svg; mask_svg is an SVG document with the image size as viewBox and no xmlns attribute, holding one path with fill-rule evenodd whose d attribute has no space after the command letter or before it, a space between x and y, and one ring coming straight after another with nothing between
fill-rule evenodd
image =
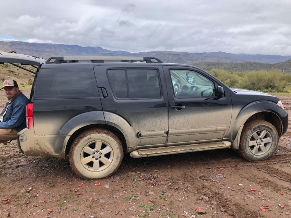
<instances>
[{"instance_id":1,"label":"mud-splashed rear passenger door of the SUV, with tinted window","mask_svg":"<svg viewBox=\"0 0 291 218\"><path fill-rule=\"evenodd\" d=\"M122 117L132 127L130 137L136 144L127 147L163 146L168 132L168 97L162 66L101 65L94 71L104 112Z\"/></svg>"}]
</instances>

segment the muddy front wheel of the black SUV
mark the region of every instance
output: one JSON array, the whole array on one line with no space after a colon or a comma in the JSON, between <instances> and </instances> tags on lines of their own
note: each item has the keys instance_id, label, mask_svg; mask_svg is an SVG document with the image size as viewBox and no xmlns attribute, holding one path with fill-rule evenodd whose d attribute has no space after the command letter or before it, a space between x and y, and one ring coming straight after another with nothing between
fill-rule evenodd
<instances>
[{"instance_id":1,"label":"muddy front wheel of the black SUV","mask_svg":"<svg viewBox=\"0 0 291 218\"><path fill-rule=\"evenodd\" d=\"M250 120L244 124L238 153L249 161L269 158L277 148L278 132L264 120Z\"/></svg>"}]
</instances>

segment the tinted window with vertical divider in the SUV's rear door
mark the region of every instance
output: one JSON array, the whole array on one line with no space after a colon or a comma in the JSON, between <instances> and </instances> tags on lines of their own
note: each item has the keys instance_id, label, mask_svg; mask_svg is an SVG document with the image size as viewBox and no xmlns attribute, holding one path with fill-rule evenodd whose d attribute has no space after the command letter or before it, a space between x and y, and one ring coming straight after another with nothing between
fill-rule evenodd
<instances>
[{"instance_id":1,"label":"tinted window with vertical divider in the SUV's rear door","mask_svg":"<svg viewBox=\"0 0 291 218\"><path fill-rule=\"evenodd\" d=\"M156 69L109 69L107 73L112 92L118 99L161 97Z\"/></svg>"}]
</instances>

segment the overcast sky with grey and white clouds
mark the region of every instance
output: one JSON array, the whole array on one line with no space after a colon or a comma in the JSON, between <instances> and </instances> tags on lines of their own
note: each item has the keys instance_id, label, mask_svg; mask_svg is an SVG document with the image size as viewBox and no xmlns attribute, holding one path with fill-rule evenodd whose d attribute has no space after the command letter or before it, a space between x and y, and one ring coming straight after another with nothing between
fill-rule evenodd
<instances>
[{"instance_id":1,"label":"overcast sky with grey and white clouds","mask_svg":"<svg viewBox=\"0 0 291 218\"><path fill-rule=\"evenodd\" d=\"M291 55L290 0L0 0L0 41Z\"/></svg>"}]
</instances>

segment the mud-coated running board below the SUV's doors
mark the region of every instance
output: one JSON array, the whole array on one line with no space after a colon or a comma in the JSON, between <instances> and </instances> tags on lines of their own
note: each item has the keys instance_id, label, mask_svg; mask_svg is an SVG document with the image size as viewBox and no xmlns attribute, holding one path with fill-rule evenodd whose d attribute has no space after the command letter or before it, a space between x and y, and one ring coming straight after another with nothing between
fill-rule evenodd
<instances>
[{"instance_id":1,"label":"mud-coated running board below the SUV's doors","mask_svg":"<svg viewBox=\"0 0 291 218\"><path fill-rule=\"evenodd\" d=\"M178 153L188 153L194 151L206 151L206 150L215 150L230 148L231 142L209 142L203 144L189 144L189 145L178 145L178 146L168 146L168 147L159 147L159 148L148 148L148 149L138 149L132 151L130 156L132 158L143 158L150 156L159 156L167 154L178 154Z\"/></svg>"}]
</instances>

